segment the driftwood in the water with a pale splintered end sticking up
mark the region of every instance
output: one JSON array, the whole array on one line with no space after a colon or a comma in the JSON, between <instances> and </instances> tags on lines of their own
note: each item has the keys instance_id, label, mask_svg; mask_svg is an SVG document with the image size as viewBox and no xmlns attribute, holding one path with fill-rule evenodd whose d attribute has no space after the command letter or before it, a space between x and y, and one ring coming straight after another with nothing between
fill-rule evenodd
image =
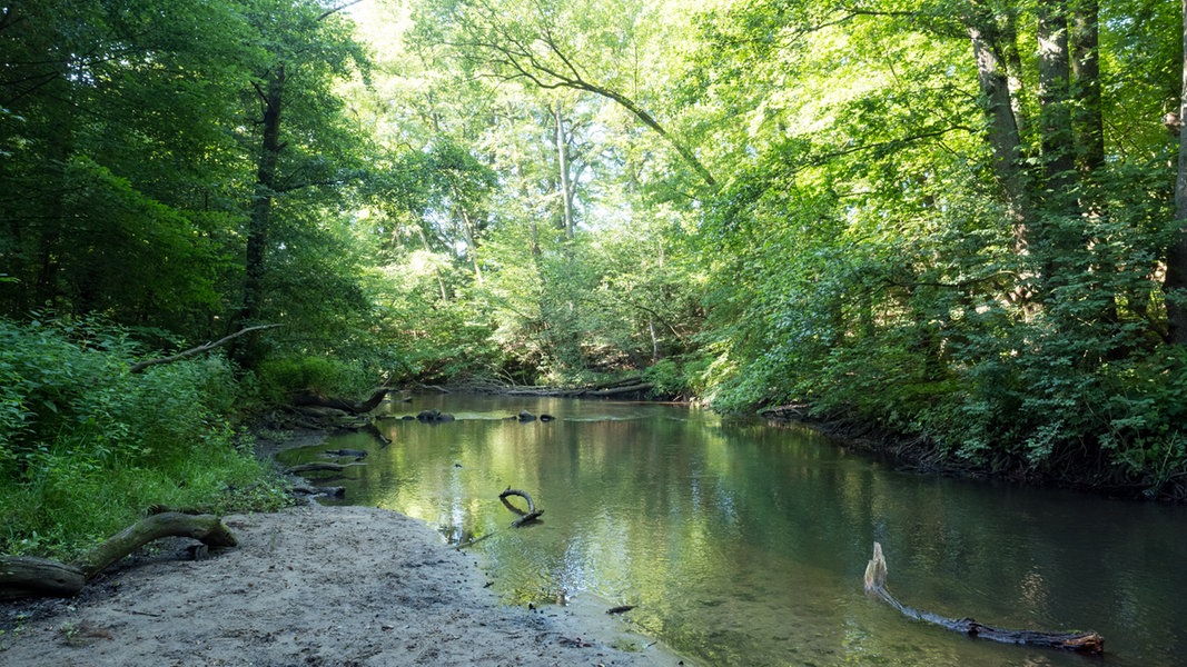
<instances>
[{"instance_id":1,"label":"driftwood in the water with a pale splintered end sticking up","mask_svg":"<svg viewBox=\"0 0 1187 667\"><path fill-rule=\"evenodd\" d=\"M992 640L1002 643L1059 648L1092 655L1099 655L1105 650L1104 637L1096 633L1003 630L1001 628L991 628L983 623L978 623L972 618L946 618L929 611L920 611L895 599L894 596L890 595L890 591L887 590L886 580L887 561L882 555L882 545L874 542L874 555L870 558L870 563L865 566L865 592L882 599L909 618L940 625L941 628L946 628L956 633L963 633L970 637Z\"/></svg>"}]
</instances>

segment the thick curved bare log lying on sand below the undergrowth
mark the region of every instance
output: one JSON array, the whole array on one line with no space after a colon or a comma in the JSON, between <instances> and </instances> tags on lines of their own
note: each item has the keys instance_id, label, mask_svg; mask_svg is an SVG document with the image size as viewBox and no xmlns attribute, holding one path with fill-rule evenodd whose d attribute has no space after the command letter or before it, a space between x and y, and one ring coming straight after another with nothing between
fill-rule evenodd
<instances>
[{"instance_id":1,"label":"thick curved bare log lying on sand below the undergrowth","mask_svg":"<svg viewBox=\"0 0 1187 667\"><path fill-rule=\"evenodd\" d=\"M144 545L166 536L193 538L205 547L233 547L235 535L210 514L154 514L112 535L71 563L44 558L0 555L0 599L77 595L83 585L113 563Z\"/></svg>"}]
</instances>

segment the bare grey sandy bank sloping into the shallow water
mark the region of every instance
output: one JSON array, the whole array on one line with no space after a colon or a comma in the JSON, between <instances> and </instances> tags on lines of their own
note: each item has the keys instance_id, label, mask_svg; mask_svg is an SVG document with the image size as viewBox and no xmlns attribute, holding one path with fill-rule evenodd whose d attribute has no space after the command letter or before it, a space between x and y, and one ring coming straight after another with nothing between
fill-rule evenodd
<instances>
[{"instance_id":1,"label":"bare grey sandy bank sloping into the shallow water","mask_svg":"<svg viewBox=\"0 0 1187 667\"><path fill-rule=\"evenodd\" d=\"M400 514L307 504L224 523L240 545L223 553L158 540L75 598L0 604L0 663L683 663L609 617L502 605L474 555Z\"/></svg>"}]
</instances>

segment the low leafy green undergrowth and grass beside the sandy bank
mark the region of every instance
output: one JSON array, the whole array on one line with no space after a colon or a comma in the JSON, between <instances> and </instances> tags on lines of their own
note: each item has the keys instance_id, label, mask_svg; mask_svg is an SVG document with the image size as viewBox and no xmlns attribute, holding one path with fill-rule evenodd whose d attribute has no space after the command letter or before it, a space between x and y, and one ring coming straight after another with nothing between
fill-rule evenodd
<instances>
[{"instance_id":1,"label":"low leafy green undergrowth and grass beside the sandy bank","mask_svg":"<svg viewBox=\"0 0 1187 667\"><path fill-rule=\"evenodd\" d=\"M101 323L0 320L0 553L69 559L152 507L278 509L284 482L227 420L230 364L154 366Z\"/></svg>"}]
</instances>

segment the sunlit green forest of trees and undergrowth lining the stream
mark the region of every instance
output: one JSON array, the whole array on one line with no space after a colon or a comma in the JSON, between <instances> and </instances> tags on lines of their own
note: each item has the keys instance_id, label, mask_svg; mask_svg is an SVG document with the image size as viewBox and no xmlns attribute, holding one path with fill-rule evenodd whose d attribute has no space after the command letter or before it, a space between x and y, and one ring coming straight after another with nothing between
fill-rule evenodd
<instances>
[{"instance_id":1,"label":"sunlit green forest of trees and undergrowth lining the stream","mask_svg":"<svg viewBox=\"0 0 1187 667\"><path fill-rule=\"evenodd\" d=\"M1185 37L1151 0L4 2L0 551L128 487L280 502L248 415L383 381L635 377L1187 500Z\"/></svg>"}]
</instances>

